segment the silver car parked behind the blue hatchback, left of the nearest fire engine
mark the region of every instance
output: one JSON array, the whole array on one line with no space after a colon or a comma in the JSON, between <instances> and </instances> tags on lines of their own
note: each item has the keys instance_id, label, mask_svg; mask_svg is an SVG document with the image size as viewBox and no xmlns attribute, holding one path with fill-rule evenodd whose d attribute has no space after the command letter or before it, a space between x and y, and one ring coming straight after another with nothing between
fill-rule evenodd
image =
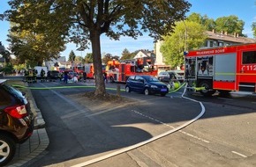
<instances>
[{"instance_id":1,"label":"silver car parked behind the blue hatchback, left of the nearest fire engine","mask_svg":"<svg viewBox=\"0 0 256 167\"><path fill-rule=\"evenodd\" d=\"M170 79L175 79L179 82L184 81L184 71L183 70L168 70L168 71L161 71L157 78L162 82L169 82Z\"/></svg>"}]
</instances>

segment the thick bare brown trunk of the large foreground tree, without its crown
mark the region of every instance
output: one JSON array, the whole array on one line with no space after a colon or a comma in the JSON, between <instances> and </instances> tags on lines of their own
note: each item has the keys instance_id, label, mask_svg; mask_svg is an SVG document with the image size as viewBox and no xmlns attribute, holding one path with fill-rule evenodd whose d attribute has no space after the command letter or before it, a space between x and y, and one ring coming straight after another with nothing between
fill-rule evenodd
<instances>
[{"instance_id":1,"label":"thick bare brown trunk of the large foreground tree, without its crown","mask_svg":"<svg viewBox=\"0 0 256 167\"><path fill-rule=\"evenodd\" d=\"M102 54L101 54L101 41L100 41L100 31L93 30L90 32L90 38L92 42L93 50L93 62L94 62L94 79L96 90L94 92L95 96L104 96L106 94L106 88L103 81L102 75Z\"/></svg>"}]
</instances>

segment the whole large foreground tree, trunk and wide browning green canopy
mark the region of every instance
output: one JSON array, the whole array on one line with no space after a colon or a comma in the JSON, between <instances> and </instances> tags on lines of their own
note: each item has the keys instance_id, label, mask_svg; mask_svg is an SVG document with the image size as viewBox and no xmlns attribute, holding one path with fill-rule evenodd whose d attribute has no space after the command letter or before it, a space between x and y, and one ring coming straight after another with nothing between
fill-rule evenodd
<instances>
[{"instance_id":1,"label":"whole large foreground tree, trunk and wide browning green canopy","mask_svg":"<svg viewBox=\"0 0 256 167\"><path fill-rule=\"evenodd\" d=\"M175 21L184 19L191 6L184 0L11 0L9 4L11 11L7 14L11 22L19 25L16 30L42 33L50 44L55 40L59 44L73 41L83 49L91 43L94 93L100 96L106 93L102 80L102 33L112 40L122 35L136 39L144 32L159 39L173 30Z\"/></svg>"}]
</instances>

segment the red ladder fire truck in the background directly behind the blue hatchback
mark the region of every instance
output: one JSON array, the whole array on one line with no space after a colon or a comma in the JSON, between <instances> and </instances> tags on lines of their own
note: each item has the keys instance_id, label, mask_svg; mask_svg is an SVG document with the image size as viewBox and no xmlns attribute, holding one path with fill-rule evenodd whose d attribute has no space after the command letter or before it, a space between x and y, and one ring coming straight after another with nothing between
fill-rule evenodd
<instances>
[{"instance_id":1,"label":"red ladder fire truck in the background directly behind the blue hatchback","mask_svg":"<svg viewBox=\"0 0 256 167\"><path fill-rule=\"evenodd\" d=\"M111 83L125 83L127 78L132 75L157 76L157 69L154 66L138 66L133 60L109 61L106 72Z\"/></svg>"}]
</instances>

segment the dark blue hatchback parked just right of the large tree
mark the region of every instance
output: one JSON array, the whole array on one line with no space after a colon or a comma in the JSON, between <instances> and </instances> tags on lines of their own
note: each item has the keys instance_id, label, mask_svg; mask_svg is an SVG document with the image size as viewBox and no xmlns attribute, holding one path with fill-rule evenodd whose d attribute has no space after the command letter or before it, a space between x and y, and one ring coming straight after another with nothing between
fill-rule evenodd
<instances>
[{"instance_id":1,"label":"dark blue hatchback parked just right of the large tree","mask_svg":"<svg viewBox=\"0 0 256 167\"><path fill-rule=\"evenodd\" d=\"M165 96L169 89L166 84L160 82L154 76L130 76L125 84L125 91L139 91L145 95L149 94L160 94Z\"/></svg>"}]
</instances>

